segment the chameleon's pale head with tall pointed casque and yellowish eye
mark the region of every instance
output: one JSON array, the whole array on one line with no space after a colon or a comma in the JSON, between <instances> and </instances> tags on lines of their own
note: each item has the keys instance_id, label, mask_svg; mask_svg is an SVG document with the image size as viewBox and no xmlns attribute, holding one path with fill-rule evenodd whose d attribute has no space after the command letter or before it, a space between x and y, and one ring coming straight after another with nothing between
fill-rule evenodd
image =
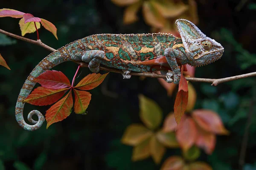
<instances>
[{"instance_id":1,"label":"chameleon's pale head with tall pointed casque and yellowish eye","mask_svg":"<svg viewBox=\"0 0 256 170\"><path fill-rule=\"evenodd\" d=\"M201 66L221 58L224 48L220 43L206 37L195 24L179 19L175 22L186 50L189 64Z\"/></svg>"}]
</instances>

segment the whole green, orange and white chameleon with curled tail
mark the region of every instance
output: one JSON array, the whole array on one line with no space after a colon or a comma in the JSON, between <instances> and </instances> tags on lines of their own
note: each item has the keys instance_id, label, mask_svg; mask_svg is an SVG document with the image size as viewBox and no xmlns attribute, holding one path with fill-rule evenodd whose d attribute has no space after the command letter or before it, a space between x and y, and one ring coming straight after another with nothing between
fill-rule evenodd
<instances>
[{"instance_id":1,"label":"whole green, orange and white chameleon with curled tail","mask_svg":"<svg viewBox=\"0 0 256 170\"><path fill-rule=\"evenodd\" d=\"M45 57L29 74L17 99L15 117L25 130L33 131L41 127L44 116L39 111L31 111L28 120L23 118L23 99L35 86L33 79L44 71L66 61L89 63L90 71L97 73L99 65L124 71L123 77L129 79L130 71L151 72L160 70L166 74L166 82L178 84L179 65L201 66L219 59L224 48L220 43L206 37L193 23L179 19L175 22L181 38L172 34L96 34L71 42ZM168 70L172 70L169 72ZM172 79L171 77L174 77ZM32 115L38 116L38 121Z\"/></svg>"}]
</instances>

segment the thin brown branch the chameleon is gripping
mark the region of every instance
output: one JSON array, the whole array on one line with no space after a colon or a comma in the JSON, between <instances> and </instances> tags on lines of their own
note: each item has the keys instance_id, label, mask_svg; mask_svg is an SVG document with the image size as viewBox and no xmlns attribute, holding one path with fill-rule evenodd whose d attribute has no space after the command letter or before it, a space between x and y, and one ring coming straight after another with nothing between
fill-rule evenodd
<instances>
[{"instance_id":1,"label":"thin brown branch the chameleon is gripping","mask_svg":"<svg viewBox=\"0 0 256 170\"><path fill-rule=\"evenodd\" d=\"M20 37L18 35L9 33L7 31L3 31L2 29L0 29L0 33L6 34L10 37L14 37L14 38L19 39L19 40L23 40L23 41L26 41L26 42L30 42L30 43L39 45L39 46L44 47L45 49L47 49L49 51L55 51L54 48L51 48L48 45L44 44L43 42L41 42L41 40L35 41L35 40L28 39L28 38ZM82 62L82 61L74 61L74 62L80 64L81 67L88 67L88 64L85 63L85 62ZM108 68L108 67L100 66L99 69L103 70L103 71L109 71L109 72L113 72L113 73L123 74L122 70L118 70L118 69L115 69L115 68ZM165 75L156 74L154 72L152 72L152 73L131 72L130 74L134 75L134 76L145 76L145 77L166 79ZM191 81L191 82L208 82L208 83L212 83L212 85L216 86L216 85L218 85L220 83L223 83L223 82L229 82L229 81L233 81L233 80L236 80L236 79L243 79L243 78L246 78L246 77L253 77L253 76L256 76L256 72L248 73L248 74L241 74L241 75L233 76L233 77L226 77L226 78L222 78L222 79L204 79L204 78L186 77L186 80Z\"/></svg>"}]
</instances>

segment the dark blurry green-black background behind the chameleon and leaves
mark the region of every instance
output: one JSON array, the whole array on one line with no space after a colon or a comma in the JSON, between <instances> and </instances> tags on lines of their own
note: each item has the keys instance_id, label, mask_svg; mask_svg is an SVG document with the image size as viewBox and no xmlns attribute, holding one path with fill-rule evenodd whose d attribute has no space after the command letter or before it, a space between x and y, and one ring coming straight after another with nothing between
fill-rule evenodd
<instances>
[{"instance_id":1,"label":"dark blurry green-black background behind the chameleon and leaves","mask_svg":"<svg viewBox=\"0 0 256 170\"><path fill-rule=\"evenodd\" d=\"M240 1L244 5L236 10ZM196 68L195 77L222 78L256 71L256 8L252 0L197 0L199 24L204 34L224 46L223 57L213 64ZM141 12L139 21L122 24L124 8L110 0L3 0L0 8L12 8L54 23L58 39L41 27L42 42L60 48L69 42L99 33L148 33ZM0 28L21 35L19 19L0 18ZM1 35L2 36L2 35ZM36 33L25 37L36 40ZM166 116L173 109L175 96L168 97L157 79L110 73L98 88L90 91L92 99L87 115L71 113L62 122L46 123L41 129L27 132L15 121L15 104L26 77L50 52L37 45L2 36L0 53L11 71L0 67L0 160L7 170L14 164L26 164L30 169L84 170L155 170L160 166L151 158L131 162L132 147L119 142L125 128L140 122L138 94L154 99ZM54 70L62 71L72 80L77 64L66 62ZM89 74L79 71L79 78ZM104 72L101 72L104 73ZM239 168L239 153L249 117L251 125L247 142L244 170L256 170L256 79L247 78L212 87L208 83L192 82L197 91L195 108L209 108L222 118L229 136L217 136L215 151L199 160L208 162L214 170ZM42 113L49 107L27 104L24 117L32 109ZM163 160L172 155L168 151ZM162 162L163 162L162 160ZM20 163L22 162L22 163ZM25 168L25 167L23 167ZM26 169L26 168L25 168ZM24 170L25 170L24 169Z\"/></svg>"}]
</instances>

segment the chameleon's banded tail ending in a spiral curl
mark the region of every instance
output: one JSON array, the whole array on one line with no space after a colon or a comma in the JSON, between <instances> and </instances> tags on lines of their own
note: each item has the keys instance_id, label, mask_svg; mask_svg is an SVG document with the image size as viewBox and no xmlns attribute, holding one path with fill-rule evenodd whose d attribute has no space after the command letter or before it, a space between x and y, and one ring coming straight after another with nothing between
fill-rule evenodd
<instances>
[{"instance_id":1,"label":"chameleon's banded tail ending in a spiral curl","mask_svg":"<svg viewBox=\"0 0 256 170\"><path fill-rule=\"evenodd\" d=\"M24 103L23 99L26 99L27 96L29 96L30 92L35 86L35 82L33 80L38 77L43 72L53 68L54 66L70 60L81 60L79 57L73 57L69 55L70 52L67 50L66 47L59 48L58 50L52 52L47 57L45 57L35 68L34 70L29 74L29 77L26 79L23 87L20 90L20 94L17 99L16 108L15 108L15 117L18 124L25 130L34 131L39 129L42 124L44 123L44 116L39 111L31 111L28 115L28 120L34 125L29 125L25 122L23 118L23 108ZM35 121L32 119L33 115L38 116L38 121Z\"/></svg>"}]
</instances>

